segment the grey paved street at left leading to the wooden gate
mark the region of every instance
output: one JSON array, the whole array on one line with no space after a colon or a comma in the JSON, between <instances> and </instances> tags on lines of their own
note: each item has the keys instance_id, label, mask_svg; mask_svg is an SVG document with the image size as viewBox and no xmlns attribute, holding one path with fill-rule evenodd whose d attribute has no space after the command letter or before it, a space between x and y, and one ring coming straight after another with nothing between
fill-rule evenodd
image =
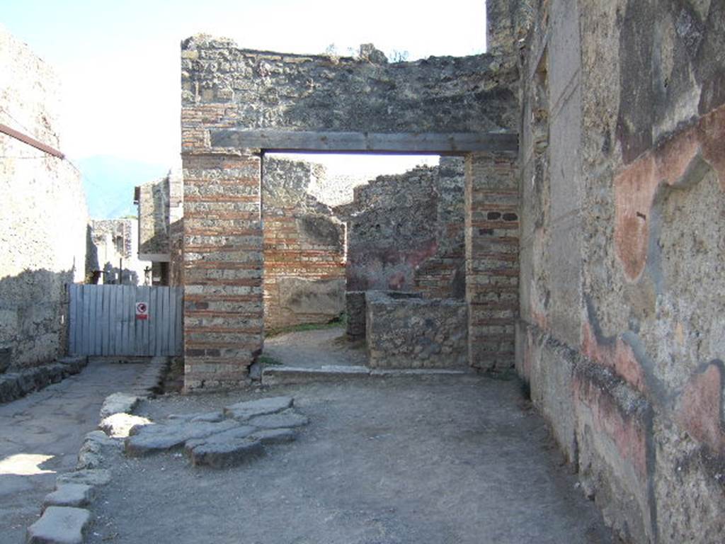
<instances>
[{"instance_id":1,"label":"grey paved street at left leading to the wooden gate","mask_svg":"<svg viewBox=\"0 0 725 544\"><path fill-rule=\"evenodd\" d=\"M0 405L0 544L25 542L56 474L75 469L105 397L129 390L144 368L91 359L80 374Z\"/></svg>"}]
</instances>

